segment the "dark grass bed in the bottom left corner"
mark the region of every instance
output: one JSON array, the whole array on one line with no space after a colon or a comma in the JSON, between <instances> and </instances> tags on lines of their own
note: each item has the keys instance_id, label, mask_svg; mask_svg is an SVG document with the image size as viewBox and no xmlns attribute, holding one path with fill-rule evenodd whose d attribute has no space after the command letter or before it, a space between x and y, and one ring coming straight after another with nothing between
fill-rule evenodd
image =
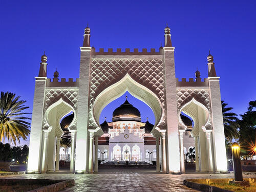
<instances>
[{"instance_id":1,"label":"dark grass bed in the bottom left corner","mask_svg":"<svg viewBox=\"0 0 256 192\"><path fill-rule=\"evenodd\" d=\"M29 191L33 190L36 188L40 188L44 185L39 185L39 184L28 184L28 185L20 185L20 184L15 184L15 185L0 185L0 191L1 192L23 192L23 191Z\"/></svg>"}]
</instances>

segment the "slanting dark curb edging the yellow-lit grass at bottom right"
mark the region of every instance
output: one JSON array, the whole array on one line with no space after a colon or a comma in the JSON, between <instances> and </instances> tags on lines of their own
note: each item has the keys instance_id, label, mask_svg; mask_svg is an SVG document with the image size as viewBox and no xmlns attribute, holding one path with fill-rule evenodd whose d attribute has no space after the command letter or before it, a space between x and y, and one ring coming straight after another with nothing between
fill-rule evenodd
<instances>
[{"instance_id":1,"label":"slanting dark curb edging the yellow-lit grass at bottom right","mask_svg":"<svg viewBox=\"0 0 256 192\"><path fill-rule=\"evenodd\" d=\"M233 192L232 190L227 190L215 186L210 186L210 185L205 185L205 184L199 184L193 181L183 181L183 185L186 185L189 188L194 188L200 191L205 191L205 192Z\"/></svg>"}]
</instances>

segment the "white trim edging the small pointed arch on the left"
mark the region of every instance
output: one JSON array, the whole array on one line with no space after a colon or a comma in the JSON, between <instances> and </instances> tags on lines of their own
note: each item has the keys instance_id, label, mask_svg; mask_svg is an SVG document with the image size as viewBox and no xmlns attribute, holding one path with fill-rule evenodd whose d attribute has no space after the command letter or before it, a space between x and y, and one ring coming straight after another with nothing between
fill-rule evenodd
<instances>
[{"instance_id":1,"label":"white trim edging the small pointed arch on the left","mask_svg":"<svg viewBox=\"0 0 256 192\"><path fill-rule=\"evenodd\" d=\"M69 126L68 126L69 131L70 131L70 127L71 127L71 126L74 124L74 122L75 122L75 119L76 119L76 111L74 110L74 108L73 108L69 103L63 101L63 99L60 98L57 102L51 104L51 105L49 106L49 108L46 110L45 119L46 119L47 125L49 126L49 129L48 129L49 131L51 131L51 129L52 129L52 126L50 125L50 122L49 122L49 113L51 112L52 109L54 109L56 106L60 105L61 103L67 105L67 106L70 108L70 110L69 110L69 112L67 112L67 113L63 114L61 117L59 117L59 119L58 119L58 125L59 125L59 126L58 126L58 127L60 127L60 120L61 120L61 118L62 118L63 116L65 116L65 115L69 114L71 111L74 113L74 118L73 118L72 122L71 122L71 123L69 124ZM61 131L62 131L62 130L61 130Z\"/></svg>"}]
</instances>

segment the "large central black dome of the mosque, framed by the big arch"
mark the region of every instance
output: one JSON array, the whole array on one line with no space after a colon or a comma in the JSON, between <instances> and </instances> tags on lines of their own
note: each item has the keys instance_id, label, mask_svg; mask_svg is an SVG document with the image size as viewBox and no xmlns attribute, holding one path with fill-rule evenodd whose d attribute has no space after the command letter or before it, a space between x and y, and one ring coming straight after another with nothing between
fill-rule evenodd
<instances>
[{"instance_id":1,"label":"large central black dome of the mosque, framed by the big arch","mask_svg":"<svg viewBox=\"0 0 256 192\"><path fill-rule=\"evenodd\" d=\"M130 104L127 99L121 106L116 108L113 112L113 118L117 116L136 116L140 117L140 111Z\"/></svg>"}]
</instances>

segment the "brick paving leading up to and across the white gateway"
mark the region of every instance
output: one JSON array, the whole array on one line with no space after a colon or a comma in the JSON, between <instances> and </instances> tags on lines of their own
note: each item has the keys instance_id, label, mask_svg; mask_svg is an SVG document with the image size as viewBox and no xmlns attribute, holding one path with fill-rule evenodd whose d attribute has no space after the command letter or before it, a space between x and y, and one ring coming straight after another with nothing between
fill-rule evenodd
<instances>
[{"instance_id":1,"label":"brick paving leading up to and across the white gateway","mask_svg":"<svg viewBox=\"0 0 256 192\"><path fill-rule=\"evenodd\" d=\"M233 178L233 174L202 174L184 175L157 174L153 169L99 169L98 174L26 174L3 176L1 178L26 179L74 179L75 186L62 190L68 191L197 191L190 189L182 182L184 179L199 178ZM1 179L0 178L0 179ZM256 176L244 175L244 178Z\"/></svg>"}]
</instances>

